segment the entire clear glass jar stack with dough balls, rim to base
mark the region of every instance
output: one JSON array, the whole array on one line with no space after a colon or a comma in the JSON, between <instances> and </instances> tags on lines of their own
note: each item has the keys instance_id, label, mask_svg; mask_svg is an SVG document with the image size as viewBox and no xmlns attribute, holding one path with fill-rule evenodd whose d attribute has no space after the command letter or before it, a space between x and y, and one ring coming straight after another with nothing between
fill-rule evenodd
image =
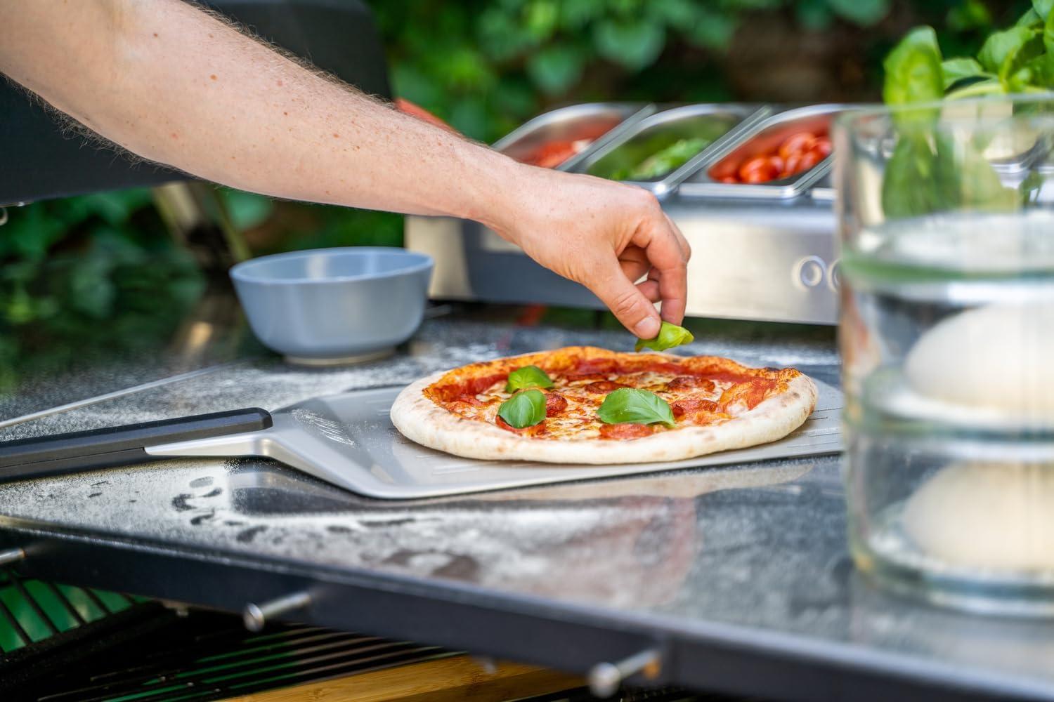
<instances>
[{"instance_id":1,"label":"entire clear glass jar stack with dough balls, rim to base","mask_svg":"<svg viewBox=\"0 0 1054 702\"><path fill-rule=\"evenodd\" d=\"M1054 614L1054 98L834 136L853 558L932 602Z\"/></svg>"}]
</instances>

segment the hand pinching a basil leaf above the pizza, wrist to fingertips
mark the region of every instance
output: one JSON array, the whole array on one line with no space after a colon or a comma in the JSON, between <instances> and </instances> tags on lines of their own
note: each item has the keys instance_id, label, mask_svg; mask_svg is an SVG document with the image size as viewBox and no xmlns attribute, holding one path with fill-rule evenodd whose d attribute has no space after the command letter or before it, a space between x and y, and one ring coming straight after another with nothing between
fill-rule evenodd
<instances>
[{"instance_id":1,"label":"hand pinching a basil leaf above the pizza, wrist to fingertips","mask_svg":"<svg viewBox=\"0 0 1054 702\"><path fill-rule=\"evenodd\" d=\"M588 287L642 339L659 334L652 303L662 303L662 319L681 323L691 249L651 193L519 164L509 184L503 212L481 217L501 237Z\"/></svg>"}]
</instances>

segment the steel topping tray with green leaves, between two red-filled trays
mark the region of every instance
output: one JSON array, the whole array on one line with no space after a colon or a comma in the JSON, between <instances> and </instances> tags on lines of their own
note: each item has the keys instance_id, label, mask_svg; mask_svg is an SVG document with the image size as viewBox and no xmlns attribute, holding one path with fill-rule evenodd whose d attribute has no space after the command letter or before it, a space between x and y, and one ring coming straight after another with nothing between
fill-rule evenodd
<instances>
[{"instance_id":1,"label":"steel topping tray with green leaves, between two red-filled trays","mask_svg":"<svg viewBox=\"0 0 1054 702\"><path fill-rule=\"evenodd\" d=\"M709 140L696 156L671 172L647 180L626 180L657 194L666 193L694 171L692 164L700 156L735 143L743 131L768 112L767 107L738 104L697 104L666 109L642 120L623 138L583 155L572 169L606 178L617 171L639 164L678 140L697 137Z\"/></svg>"}]
</instances>

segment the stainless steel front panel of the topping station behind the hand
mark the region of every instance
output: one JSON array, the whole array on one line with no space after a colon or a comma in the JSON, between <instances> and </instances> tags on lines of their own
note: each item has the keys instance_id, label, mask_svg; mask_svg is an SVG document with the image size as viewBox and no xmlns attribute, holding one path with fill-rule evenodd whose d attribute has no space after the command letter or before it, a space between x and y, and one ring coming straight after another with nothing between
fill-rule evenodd
<instances>
[{"instance_id":1,"label":"stainless steel front panel of the topping station behind the hand","mask_svg":"<svg viewBox=\"0 0 1054 702\"><path fill-rule=\"evenodd\" d=\"M671 197L663 208L691 245L689 316L837 323L836 218L829 199L703 204L701 198ZM435 259L429 290L435 299L603 308L585 287L475 222L408 217L406 244Z\"/></svg>"}]
</instances>

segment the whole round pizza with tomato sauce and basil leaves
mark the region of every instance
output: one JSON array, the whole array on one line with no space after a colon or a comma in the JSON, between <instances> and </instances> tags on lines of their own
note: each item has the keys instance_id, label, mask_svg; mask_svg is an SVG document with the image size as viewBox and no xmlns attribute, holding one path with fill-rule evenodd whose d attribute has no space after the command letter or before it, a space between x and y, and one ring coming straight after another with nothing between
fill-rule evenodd
<instances>
[{"instance_id":1,"label":"whole round pizza with tomato sauce and basil leaves","mask_svg":"<svg viewBox=\"0 0 1054 702\"><path fill-rule=\"evenodd\" d=\"M544 381L511 387L525 373ZM805 421L816 397L813 381L794 368L571 346L423 378L399 393L391 420L408 439L467 458L640 463L775 441ZM626 398L642 403L627 410L618 401ZM526 400L534 423L510 424L515 415L506 408Z\"/></svg>"}]
</instances>

